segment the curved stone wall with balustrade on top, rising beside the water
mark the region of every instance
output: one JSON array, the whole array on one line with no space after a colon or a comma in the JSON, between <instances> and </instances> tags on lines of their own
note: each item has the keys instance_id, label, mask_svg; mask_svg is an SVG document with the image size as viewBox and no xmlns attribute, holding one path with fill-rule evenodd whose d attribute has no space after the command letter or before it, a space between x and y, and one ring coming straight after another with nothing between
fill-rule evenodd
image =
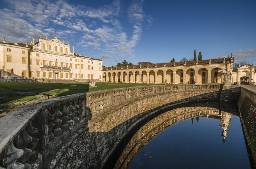
<instances>
[{"instance_id":1,"label":"curved stone wall with balustrade on top, rising beside the water","mask_svg":"<svg viewBox=\"0 0 256 169\"><path fill-rule=\"evenodd\" d=\"M124 136L173 105L218 100L221 85L156 85L35 102L0 119L3 168L102 168Z\"/></svg>"}]
</instances>

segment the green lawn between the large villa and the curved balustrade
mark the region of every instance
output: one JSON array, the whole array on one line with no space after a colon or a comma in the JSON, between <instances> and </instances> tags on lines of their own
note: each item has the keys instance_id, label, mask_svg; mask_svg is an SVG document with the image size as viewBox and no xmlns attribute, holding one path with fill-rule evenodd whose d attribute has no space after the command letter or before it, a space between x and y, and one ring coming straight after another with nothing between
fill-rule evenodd
<instances>
[{"instance_id":1,"label":"green lawn between the large villa and the curved balustrade","mask_svg":"<svg viewBox=\"0 0 256 169\"><path fill-rule=\"evenodd\" d=\"M88 91L143 85L157 84L96 83L97 87L89 88L87 83L0 83L0 117L22 105L47 99L47 96L43 94L52 94L52 98Z\"/></svg>"}]
</instances>

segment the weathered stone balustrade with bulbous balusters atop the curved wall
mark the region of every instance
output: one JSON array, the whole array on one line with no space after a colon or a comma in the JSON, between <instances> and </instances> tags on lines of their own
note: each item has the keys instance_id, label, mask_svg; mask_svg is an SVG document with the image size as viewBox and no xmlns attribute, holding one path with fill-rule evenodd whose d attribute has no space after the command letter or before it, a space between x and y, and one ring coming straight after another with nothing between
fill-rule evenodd
<instances>
[{"instance_id":1,"label":"weathered stone balustrade with bulbous balusters atop the curved wall","mask_svg":"<svg viewBox=\"0 0 256 169\"><path fill-rule=\"evenodd\" d=\"M222 85L154 85L78 93L24 105L0 118L0 168L54 168L88 120L122 103L170 92L220 90Z\"/></svg>"}]
</instances>

